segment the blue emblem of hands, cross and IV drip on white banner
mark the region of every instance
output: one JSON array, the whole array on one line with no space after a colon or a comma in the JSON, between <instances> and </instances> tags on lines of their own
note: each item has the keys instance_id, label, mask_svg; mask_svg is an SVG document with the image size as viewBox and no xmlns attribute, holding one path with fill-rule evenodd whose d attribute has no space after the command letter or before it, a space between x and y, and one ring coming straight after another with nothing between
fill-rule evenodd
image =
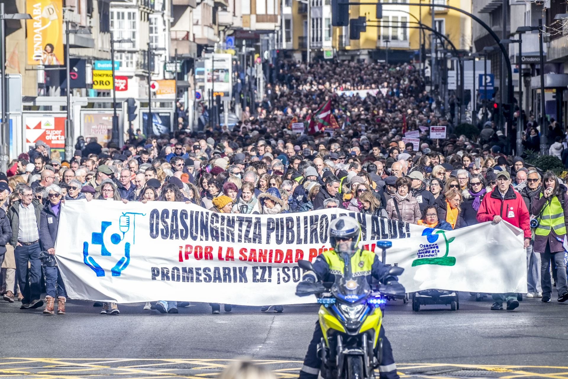
<instances>
[{"instance_id":1,"label":"blue emblem of hands, cross and IV drip on white banner","mask_svg":"<svg viewBox=\"0 0 568 379\"><path fill-rule=\"evenodd\" d=\"M122 215L119 216L119 232L114 232L110 235L110 242L112 244L118 245L122 243L126 239L126 234L130 230L132 230L132 244L136 243L136 215L145 216L146 214L136 212L123 212ZM91 245L101 245L101 256L112 256L112 253L107 249L107 245L105 244L105 238L106 236L108 236L108 233L112 232L113 229L115 229L115 227L112 228L111 221L102 221L101 232L93 232L91 234ZM122 253L121 251L120 259L111 268L112 276L120 276L120 273L122 273L123 270L127 268L128 264L130 264L130 246L130 242L124 242L124 252ZM95 272L95 274L97 274L97 276L105 276L105 269L103 269L101 265L99 265L97 261L94 260L93 256L89 255L89 243L87 241L83 242L83 263L89 266Z\"/></svg>"}]
</instances>

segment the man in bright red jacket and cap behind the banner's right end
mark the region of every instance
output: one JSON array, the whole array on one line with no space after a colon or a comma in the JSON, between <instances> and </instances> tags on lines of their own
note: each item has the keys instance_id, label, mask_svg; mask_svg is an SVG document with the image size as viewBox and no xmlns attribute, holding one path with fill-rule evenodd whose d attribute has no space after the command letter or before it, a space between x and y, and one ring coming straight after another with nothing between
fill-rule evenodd
<instances>
[{"instance_id":1,"label":"man in bright red jacket and cap behind the banner's right end","mask_svg":"<svg viewBox=\"0 0 568 379\"><path fill-rule=\"evenodd\" d=\"M506 221L524 231L525 249L531 242L531 225L527 205L521 194L513 190L511 175L507 171L498 171L497 185L483 197L477 220L479 222L492 221L499 223ZM503 302L507 299L507 310L511 311L519 306L515 293L494 293L491 310L502 310Z\"/></svg>"}]
</instances>

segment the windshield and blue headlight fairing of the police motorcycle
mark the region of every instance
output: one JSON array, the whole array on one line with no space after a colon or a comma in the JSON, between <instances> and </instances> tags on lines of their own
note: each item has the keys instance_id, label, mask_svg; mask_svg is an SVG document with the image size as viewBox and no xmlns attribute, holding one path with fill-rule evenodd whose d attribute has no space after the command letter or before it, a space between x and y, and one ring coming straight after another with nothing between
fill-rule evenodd
<instances>
[{"instance_id":1,"label":"windshield and blue headlight fairing of the police motorcycle","mask_svg":"<svg viewBox=\"0 0 568 379\"><path fill-rule=\"evenodd\" d=\"M348 303L361 301L369 295L371 288L365 275L353 274L353 263L358 263L357 254L340 253L340 257L345 264L344 274L343 276L336 276L331 293Z\"/></svg>"}]
</instances>

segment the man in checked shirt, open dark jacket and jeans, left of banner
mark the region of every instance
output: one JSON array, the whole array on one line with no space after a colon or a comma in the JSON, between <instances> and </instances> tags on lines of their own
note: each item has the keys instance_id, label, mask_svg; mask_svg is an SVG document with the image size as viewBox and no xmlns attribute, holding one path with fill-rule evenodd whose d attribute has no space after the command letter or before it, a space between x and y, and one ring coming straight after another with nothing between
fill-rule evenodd
<instances>
[{"instance_id":1,"label":"man in checked shirt, open dark jacket and jeans, left of banner","mask_svg":"<svg viewBox=\"0 0 568 379\"><path fill-rule=\"evenodd\" d=\"M10 244L14 246L16 276L24 297L20 309L36 309L43 305L43 300L40 299L41 261L39 260L41 205L34 199L32 189L26 185L20 187L18 198L10 206L8 218L12 227Z\"/></svg>"}]
</instances>

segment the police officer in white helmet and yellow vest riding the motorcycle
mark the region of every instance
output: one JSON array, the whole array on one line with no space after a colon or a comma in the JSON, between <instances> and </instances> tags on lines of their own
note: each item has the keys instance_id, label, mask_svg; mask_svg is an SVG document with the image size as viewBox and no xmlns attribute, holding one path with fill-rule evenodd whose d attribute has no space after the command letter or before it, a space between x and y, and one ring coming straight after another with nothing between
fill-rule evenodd
<instances>
[{"instance_id":1,"label":"police officer in white helmet and yellow vest riding the motorcycle","mask_svg":"<svg viewBox=\"0 0 568 379\"><path fill-rule=\"evenodd\" d=\"M343 276L344 263L337 252L352 252L359 261L352 264L353 273L360 273L366 276L371 284L372 278L383 280L384 282L396 281L396 277L385 278L389 268L383 265L375 253L368 250L358 249L357 245L361 240L361 227L357 220L349 216L336 218L329 224L329 243L333 249L321 253L312 264L314 270L304 274L304 281L309 282L333 282L336 277ZM353 260L352 260L353 263ZM361 265L362 263L362 265ZM299 379L318 378L321 360L318 357L317 349L320 340L323 338L319 322L316 322L314 336L308 346ZM392 348L389 339L385 336L385 329L381 325L379 338L383 340L382 362L379 366L381 379L398 379L396 374L396 364L392 357Z\"/></svg>"}]
</instances>

